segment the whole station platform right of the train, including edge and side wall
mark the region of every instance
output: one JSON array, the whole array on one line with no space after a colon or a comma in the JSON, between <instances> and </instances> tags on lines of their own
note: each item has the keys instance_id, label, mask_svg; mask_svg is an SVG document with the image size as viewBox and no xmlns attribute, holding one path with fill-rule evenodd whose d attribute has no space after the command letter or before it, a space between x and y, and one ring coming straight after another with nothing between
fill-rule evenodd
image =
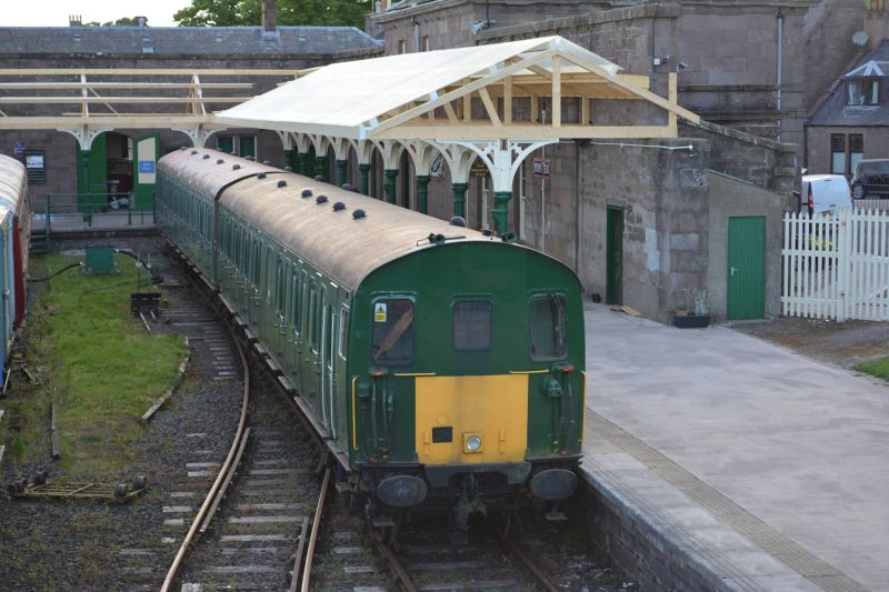
<instances>
[{"instance_id":1,"label":"whole station platform right of the train, including edge and side wall","mask_svg":"<svg viewBox=\"0 0 889 592\"><path fill-rule=\"evenodd\" d=\"M725 327L585 317L593 530L643 589L889 591L889 384Z\"/></svg>"}]
</instances>

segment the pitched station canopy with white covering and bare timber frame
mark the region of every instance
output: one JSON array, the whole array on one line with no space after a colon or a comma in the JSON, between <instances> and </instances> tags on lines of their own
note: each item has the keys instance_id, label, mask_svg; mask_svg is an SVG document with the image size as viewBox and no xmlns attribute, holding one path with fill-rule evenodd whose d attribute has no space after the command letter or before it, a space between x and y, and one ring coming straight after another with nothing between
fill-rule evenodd
<instances>
[{"instance_id":1,"label":"pitched station canopy with white covering and bare timber frame","mask_svg":"<svg viewBox=\"0 0 889 592\"><path fill-rule=\"evenodd\" d=\"M699 121L677 104L675 73L663 98L649 90L648 77L620 70L560 37L387 56L319 68L217 113L214 121L402 141L667 138L676 136L677 117ZM653 124L650 117L640 124L593 124L597 100L648 102L663 114Z\"/></svg>"}]
</instances>

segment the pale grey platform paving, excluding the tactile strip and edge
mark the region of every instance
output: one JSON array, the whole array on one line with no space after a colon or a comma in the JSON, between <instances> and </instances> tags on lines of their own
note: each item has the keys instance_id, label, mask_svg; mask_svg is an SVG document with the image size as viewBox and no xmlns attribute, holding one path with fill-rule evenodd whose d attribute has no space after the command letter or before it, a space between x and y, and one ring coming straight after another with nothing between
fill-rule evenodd
<instances>
[{"instance_id":1,"label":"pale grey platform paving, excluding the tactile strip and edge","mask_svg":"<svg viewBox=\"0 0 889 592\"><path fill-rule=\"evenodd\" d=\"M595 304L586 323L593 415L761 519L785 543L765 548L793 548L779 559L797 572L821 560L889 590L889 384L722 327Z\"/></svg>"}]
</instances>

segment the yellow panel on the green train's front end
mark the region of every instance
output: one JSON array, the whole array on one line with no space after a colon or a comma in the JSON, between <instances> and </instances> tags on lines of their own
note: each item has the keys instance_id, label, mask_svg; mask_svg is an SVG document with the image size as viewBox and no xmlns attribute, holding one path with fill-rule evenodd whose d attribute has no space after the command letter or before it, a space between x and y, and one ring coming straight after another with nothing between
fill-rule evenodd
<instances>
[{"instance_id":1,"label":"yellow panel on the green train's front end","mask_svg":"<svg viewBox=\"0 0 889 592\"><path fill-rule=\"evenodd\" d=\"M417 454L424 464L525 460L528 375L418 377ZM432 428L452 428L451 442L432 442ZM481 451L466 453L463 435L481 437Z\"/></svg>"}]
</instances>

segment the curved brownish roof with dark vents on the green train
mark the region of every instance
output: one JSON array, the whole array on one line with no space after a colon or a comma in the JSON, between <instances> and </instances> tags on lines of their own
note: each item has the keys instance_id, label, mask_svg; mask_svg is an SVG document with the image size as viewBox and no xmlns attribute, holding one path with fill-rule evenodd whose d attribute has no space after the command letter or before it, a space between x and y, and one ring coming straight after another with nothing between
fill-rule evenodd
<instances>
[{"instance_id":1,"label":"curved brownish roof with dark vents on the green train","mask_svg":"<svg viewBox=\"0 0 889 592\"><path fill-rule=\"evenodd\" d=\"M209 159L203 155L209 154ZM222 159L222 164L216 161ZM399 205L340 189L307 177L272 169L276 174L260 179L256 173L222 184L234 163L252 171L250 161L214 150L181 150L160 160L160 171L186 180L198 180L204 194L218 195L220 203L256 224L299 257L324 271L339 285L354 290L373 270L408 253L433 248L430 235L457 242L500 243L481 232L455 227ZM266 167L266 169L270 169ZM257 170L256 172L261 172ZM267 171L268 172L268 171ZM217 177L218 175L218 177ZM281 187L280 183L284 184ZM214 193L218 188L220 193ZM311 194L302 197L309 190ZM319 202L320 195L327 198ZM344 208L334 210L334 204ZM363 210L362 218L354 218ZM525 249L520 245L510 245Z\"/></svg>"}]
</instances>

